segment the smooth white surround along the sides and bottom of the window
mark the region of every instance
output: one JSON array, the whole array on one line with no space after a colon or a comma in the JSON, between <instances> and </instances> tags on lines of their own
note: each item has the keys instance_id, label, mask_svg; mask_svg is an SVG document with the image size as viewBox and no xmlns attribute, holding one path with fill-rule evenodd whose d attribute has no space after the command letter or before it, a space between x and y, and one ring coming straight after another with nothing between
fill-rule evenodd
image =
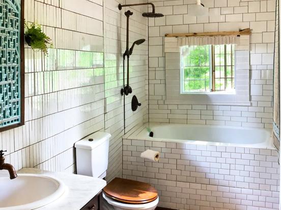
<instances>
[{"instance_id":1,"label":"smooth white surround along the sides and bottom of the window","mask_svg":"<svg viewBox=\"0 0 281 210\"><path fill-rule=\"evenodd\" d=\"M235 47L235 91L190 92L181 94L182 65L180 48L176 38L165 38L166 62L166 98L167 104L210 104L249 106L249 36L241 36L240 43ZM177 61L178 60L178 61ZM178 65L176 63L178 62ZM175 64L174 64L175 63ZM177 67L178 66L178 67ZM177 70L178 69L178 70ZM178 77L176 74L179 74ZM171 77L173 75L173 77ZM239 77L239 79L238 79Z\"/></svg>"}]
</instances>

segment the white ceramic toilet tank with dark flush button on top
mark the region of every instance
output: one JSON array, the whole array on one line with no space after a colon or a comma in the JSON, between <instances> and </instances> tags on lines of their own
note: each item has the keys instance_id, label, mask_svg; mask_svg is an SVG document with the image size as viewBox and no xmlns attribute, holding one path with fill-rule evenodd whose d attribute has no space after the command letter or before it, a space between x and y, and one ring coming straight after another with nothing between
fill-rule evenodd
<instances>
[{"instance_id":1,"label":"white ceramic toilet tank with dark flush button on top","mask_svg":"<svg viewBox=\"0 0 281 210\"><path fill-rule=\"evenodd\" d=\"M96 132L75 143L77 174L101 179L106 176L110 136Z\"/></svg>"}]
</instances>

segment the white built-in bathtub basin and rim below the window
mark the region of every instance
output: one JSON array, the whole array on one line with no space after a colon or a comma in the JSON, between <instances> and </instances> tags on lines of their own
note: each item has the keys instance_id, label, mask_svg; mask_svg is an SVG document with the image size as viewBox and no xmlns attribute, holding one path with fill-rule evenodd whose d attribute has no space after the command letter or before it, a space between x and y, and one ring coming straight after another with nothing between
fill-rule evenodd
<instances>
[{"instance_id":1,"label":"white built-in bathtub basin and rim below the window","mask_svg":"<svg viewBox=\"0 0 281 210\"><path fill-rule=\"evenodd\" d=\"M153 137L149 136L146 125L133 132L129 139L275 150L271 129L168 123L149 126Z\"/></svg>"}]
</instances>

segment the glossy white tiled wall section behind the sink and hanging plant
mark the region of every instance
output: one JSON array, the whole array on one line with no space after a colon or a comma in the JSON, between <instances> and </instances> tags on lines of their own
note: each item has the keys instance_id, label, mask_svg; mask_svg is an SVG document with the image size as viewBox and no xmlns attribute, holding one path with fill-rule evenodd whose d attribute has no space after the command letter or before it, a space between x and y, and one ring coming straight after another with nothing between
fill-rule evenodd
<instances>
[{"instance_id":1,"label":"glossy white tiled wall section behind the sink and hanging plant","mask_svg":"<svg viewBox=\"0 0 281 210\"><path fill-rule=\"evenodd\" d=\"M102 1L24 3L54 48L25 45L25 125L0 133L1 149L16 169L74 172L74 143L104 129Z\"/></svg>"}]
</instances>

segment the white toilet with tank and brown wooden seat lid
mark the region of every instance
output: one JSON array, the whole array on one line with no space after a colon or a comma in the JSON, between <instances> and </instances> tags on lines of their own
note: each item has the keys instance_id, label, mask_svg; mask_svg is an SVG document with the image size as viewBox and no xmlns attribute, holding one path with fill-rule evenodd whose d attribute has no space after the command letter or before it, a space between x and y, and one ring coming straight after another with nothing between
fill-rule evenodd
<instances>
[{"instance_id":1,"label":"white toilet with tank and brown wooden seat lid","mask_svg":"<svg viewBox=\"0 0 281 210\"><path fill-rule=\"evenodd\" d=\"M105 178L110 136L96 132L75 143L77 174ZM116 210L154 210L159 202L158 193L151 185L121 178L108 183L102 196Z\"/></svg>"}]
</instances>

